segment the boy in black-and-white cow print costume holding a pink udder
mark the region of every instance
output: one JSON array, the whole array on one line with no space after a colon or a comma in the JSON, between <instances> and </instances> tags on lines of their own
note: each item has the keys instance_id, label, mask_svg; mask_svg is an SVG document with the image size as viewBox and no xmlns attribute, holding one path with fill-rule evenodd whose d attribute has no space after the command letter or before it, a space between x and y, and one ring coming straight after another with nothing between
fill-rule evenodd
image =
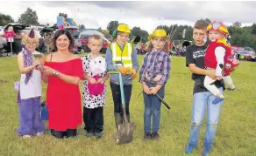
<instances>
[{"instance_id":1,"label":"boy in black-and-white cow print costume holding a pink udder","mask_svg":"<svg viewBox=\"0 0 256 156\"><path fill-rule=\"evenodd\" d=\"M89 37L89 55L82 57L83 81L83 122L86 135L100 139L103 134L103 106L105 105L106 86L109 78L105 58L100 55L103 38L98 35Z\"/></svg>"}]
</instances>

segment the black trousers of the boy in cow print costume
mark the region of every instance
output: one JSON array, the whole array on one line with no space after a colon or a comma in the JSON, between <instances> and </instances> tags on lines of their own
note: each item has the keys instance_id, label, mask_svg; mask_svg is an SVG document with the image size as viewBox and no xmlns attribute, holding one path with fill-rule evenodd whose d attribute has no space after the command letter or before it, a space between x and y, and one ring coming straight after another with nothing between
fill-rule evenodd
<instances>
[{"instance_id":1,"label":"black trousers of the boy in cow print costume","mask_svg":"<svg viewBox=\"0 0 256 156\"><path fill-rule=\"evenodd\" d=\"M103 106L95 109L88 109L83 106L83 122L87 132L103 132Z\"/></svg>"}]
</instances>

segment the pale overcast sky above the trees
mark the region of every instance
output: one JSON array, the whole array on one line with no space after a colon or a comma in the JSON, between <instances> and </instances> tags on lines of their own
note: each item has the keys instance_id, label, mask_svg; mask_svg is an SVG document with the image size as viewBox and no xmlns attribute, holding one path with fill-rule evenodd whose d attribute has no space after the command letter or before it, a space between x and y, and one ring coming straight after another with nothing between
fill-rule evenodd
<instances>
[{"instance_id":1,"label":"pale overcast sky above the trees","mask_svg":"<svg viewBox=\"0 0 256 156\"><path fill-rule=\"evenodd\" d=\"M236 21L243 26L255 22L256 2L6 2L0 12L16 21L26 8L36 10L39 23L56 24L59 12L73 17L76 24L86 28L106 29L112 20L139 26L146 31L160 24L193 25L197 19L210 18L230 25Z\"/></svg>"}]
</instances>

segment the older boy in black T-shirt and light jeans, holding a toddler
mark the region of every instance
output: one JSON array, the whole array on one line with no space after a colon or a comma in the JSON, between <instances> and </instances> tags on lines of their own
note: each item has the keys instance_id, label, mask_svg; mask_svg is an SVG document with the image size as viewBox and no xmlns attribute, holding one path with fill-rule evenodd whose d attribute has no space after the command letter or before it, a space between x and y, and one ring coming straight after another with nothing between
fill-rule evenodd
<instances>
[{"instance_id":1,"label":"older boy in black T-shirt and light jeans, holding a toddler","mask_svg":"<svg viewBox=\"0 0 256 156\"><path fill-rule=\"evenodd\" d=\"M192 72L192 79L195 81L193 90L193 105L192 105L192 119L190 136L188 146L185 153L192 153L196 148L198 142L198 134L200 132L200 125L203 121L205 108L207 109L207 125L204 138L203 156L210 153L212 141L214 139L219 112L222 108L222 102L213 105L212 101L215 98L204 86L203 80L205 75L215 78L214 70L204 69L204 55L207 44L203 41L206 37L206 28L208 23L204 20L198 20L194 26L193 38L196 44L190 45L186 51L186 66ZM224 83L216 81L215 84L220 92L224 91Z\"/></svg>"}]
</instances>

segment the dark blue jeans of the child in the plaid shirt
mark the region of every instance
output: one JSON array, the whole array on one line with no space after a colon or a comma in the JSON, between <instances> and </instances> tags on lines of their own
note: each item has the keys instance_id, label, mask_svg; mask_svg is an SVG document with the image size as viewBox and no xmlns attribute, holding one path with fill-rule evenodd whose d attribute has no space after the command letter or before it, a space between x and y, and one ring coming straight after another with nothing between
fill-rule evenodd
<instances>
[{"instance_id":1,"label":"dark blue jeans of the child in the plaid shirt","mask_svg":"<svg viewBox=\"0 0 256 156\"><path fill-rule=\"evenodd\" d=\"M152 85L147 85L151 87ZM164 86L157 92L161 98L164 98ZM156 95L146 94L143 92L144 97L144 132L151 132L151 119L153 118L152 132L158 132L160 127L160 108L161 101Z\"/></svg>"}]
</instances>

